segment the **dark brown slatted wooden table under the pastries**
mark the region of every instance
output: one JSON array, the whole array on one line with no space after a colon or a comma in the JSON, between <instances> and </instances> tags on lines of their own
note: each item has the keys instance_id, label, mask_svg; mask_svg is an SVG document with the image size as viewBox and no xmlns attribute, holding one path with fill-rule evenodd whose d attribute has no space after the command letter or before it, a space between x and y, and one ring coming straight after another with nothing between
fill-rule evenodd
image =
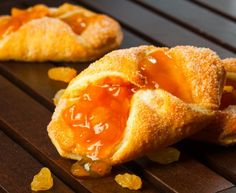
<instances>
[{"instance_id":1,"label":"dark brown slatted wooden table under the pastries","mask_svg":"<svg viewBox=\"0 0 236 193\"><path fill-rule=\"evenodd\" d=\"M36 3L57 6L63 0L0 1L0 14L12 6L26 8ZM235 0L70 0L120 21L122 48L141 44L209 47L222 58L236 53ZM223 148L183 141L178 162L162 166L146 158L114 167L99 179L78 179L70 174L71 160L60 157L50 142L46 127L56 91L66 84L50 80L53 66L73 66L79 72L87 63L0 62L0 192L28 193L35 173L43 166L54 175L50 193L131 193L114 181L118 173L141 176L137 192L230 193L236 192L236 147Z\"/></svg>"}]
</instances>

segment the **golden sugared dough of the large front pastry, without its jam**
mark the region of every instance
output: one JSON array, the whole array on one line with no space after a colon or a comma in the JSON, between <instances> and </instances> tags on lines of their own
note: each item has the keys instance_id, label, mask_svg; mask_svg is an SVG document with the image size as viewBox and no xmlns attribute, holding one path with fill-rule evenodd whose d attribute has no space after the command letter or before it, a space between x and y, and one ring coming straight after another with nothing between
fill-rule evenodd
<instances>
[{"instance_id":1,"label":"golden sugared dough of the large front pastry, without its jam","mask_svg":"<svg viewBox=\"0 0 236 193\"><path fill-rule=\"evenodd\" d=\"M137 91L131 99L124 136L110 157L111 164L176 143L211 121L212 109L219 106L225 76L221 61L213 51L191 46L171 49L140 46L117 50L81 72L60 99L48 125L48 134L61 156L81 158L73 134L62 118L63 110L77 100L78 91L104 77L120 77L139 87L143 80L138 75L138 65L143 57L155 50L164 50L177 58L176 65L183 69L186 84L192 88L193 103L185 103L162 89Z\"/></svg>"}]
</instances>

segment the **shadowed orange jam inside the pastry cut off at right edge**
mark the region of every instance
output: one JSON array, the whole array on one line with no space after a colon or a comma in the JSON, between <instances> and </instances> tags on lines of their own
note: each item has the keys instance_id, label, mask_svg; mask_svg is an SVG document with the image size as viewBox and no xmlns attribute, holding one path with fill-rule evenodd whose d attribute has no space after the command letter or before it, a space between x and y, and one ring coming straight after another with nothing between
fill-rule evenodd
<instances>
[{"instance_id":1,"label":"shadowed orange jam inside the pastry cut off at right edge","mask_svg":"<svg viewBox=\"0 0 236 193\"><path fill-rule=\"evenodd\" d=\"M232 90L223 92L220 103L221 110L229 105L236 105L236 81L227 78L225 85L231 87Z\"/></svg>"}]
</instances>

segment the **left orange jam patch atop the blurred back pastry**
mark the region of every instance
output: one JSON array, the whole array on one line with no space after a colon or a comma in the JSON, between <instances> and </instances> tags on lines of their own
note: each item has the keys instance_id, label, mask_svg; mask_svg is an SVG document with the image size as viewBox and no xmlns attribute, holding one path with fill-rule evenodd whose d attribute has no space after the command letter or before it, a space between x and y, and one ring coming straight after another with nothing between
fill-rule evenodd
<instances>
[{"instance_id":1,"label":"left orange jam patch atop the blurred back pastry","mask_svg":"<svg viewBox=\"0 0 236 193\"><path fill-rule=\"evenodd\" d=\"M36 5L31 9L21 10L13 8L11 17L0 21L0 37L5 34L10 34L18 30L23 24L33 20L45 17L49 14L49 10L44 5Z\"/></svg>"}]
</instances>

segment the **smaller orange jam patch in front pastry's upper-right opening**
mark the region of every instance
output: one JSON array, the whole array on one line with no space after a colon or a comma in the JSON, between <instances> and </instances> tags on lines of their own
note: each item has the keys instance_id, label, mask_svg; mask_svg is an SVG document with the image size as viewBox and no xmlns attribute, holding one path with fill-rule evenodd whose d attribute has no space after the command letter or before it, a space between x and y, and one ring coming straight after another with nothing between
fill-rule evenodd
<instances>
[{"instance_id":1,"label":"smaller orange jam patch in front pastry's upper-right opening","mask_svg":"<svg viewBox=\"0 0 236 193\"><path fill-rule=\"evenodd\" d=\"M150 53L140 63L140 76L145 88L162 88L186 102L191 102L191 92L175 59L158 50Z\"/></svg>"}]
</instances>

